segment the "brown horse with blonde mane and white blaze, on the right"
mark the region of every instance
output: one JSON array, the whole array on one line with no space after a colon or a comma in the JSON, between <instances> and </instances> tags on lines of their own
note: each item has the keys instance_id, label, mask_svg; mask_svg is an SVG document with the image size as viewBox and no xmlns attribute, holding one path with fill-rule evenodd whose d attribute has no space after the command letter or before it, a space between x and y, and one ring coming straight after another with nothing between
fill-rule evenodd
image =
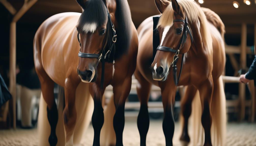
<instances>
[{"instance_id":1,"label":"brown horse with blonde mane and white blaze, on the right","mask_svg":"<svg viewBox=\"0 0 256 146\"><path fill-rule=\"evenodd\" d=\"M225 145L226 104L221 77L226 61L223 40L225 27L219 29L215 26L215 20L223 24L220 19L207 21L202 8L191 0L155 0L155 4L162 15L156 26L159 46L154 58L152 17L137 29L139 48L135 77L141 102L137 119L141 145L146 144L149 126L147 101L152 84L161 88L166 145L173 145L176 86L182 85L188 87L181 103L184 123L180 140L190 141L188 118L191 102L199 90L200 100L196 108L202 109L204 145ZM180 78L177 78L177 73Z\"/></svg>"}]
</instances>

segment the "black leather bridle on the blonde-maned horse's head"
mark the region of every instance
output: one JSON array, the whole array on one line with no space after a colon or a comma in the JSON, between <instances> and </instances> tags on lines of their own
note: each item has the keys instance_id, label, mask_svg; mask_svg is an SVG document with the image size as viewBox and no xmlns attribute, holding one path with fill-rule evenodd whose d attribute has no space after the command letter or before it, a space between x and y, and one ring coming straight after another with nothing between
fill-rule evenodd
<instances>
[{"instance_id":1,"label":"black leather bridle on the blonde-maned horse's head","mask_svg":"<svg viewBox=\"0 0 256 146\"><path fill-rule=\"evenodd\" d=\"M181 61L181 66L180 66L180 72L179 72L179 77L177 78L177 61L178 61L178 55L179 55L179 51L181 48L183 48L184 44L186 43L187 40L187 32L189 33L191 42L193 42L193 36L190 32L190 29L188 27L188 20L187 17L185 17L185 20L181 20L181 19L176 19L173 20L173 22L184 22L184 28L183 28L183 34L182 34L182 38L180 40L179 46L178 46L178 50L175 50L174 48L169 48L169 47L165 47L165 46L161 46L159 45L156 50L161 50L161 51L168 51L168 52L173 52L175 53L174 57L173 57L173 62L171 63L171 66L173 67L173 75L174 75L174 82L175 85L178 85L179 82L179 78L181 75L181 71L182 71L182 67L183 67L183 58L184 58L184 54L182 54L182 61Z\"/></svg>"}]
</instances>

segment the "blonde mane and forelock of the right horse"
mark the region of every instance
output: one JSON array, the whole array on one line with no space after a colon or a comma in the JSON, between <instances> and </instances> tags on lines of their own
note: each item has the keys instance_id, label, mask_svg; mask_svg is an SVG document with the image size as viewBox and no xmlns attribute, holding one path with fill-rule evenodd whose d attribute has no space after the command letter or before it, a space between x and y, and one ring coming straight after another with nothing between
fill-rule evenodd
<instances>
[{"instance_id":1,"label":"blonde mane and forelock of the right horse","mask_svg":"<svg viewBox=\"0 0 256 146\"><path fill-rule=\"evenodd\" d=\"M200 33L202 37L203 46L208 50L209 55L212 56L212 38L210 31L207 29L208 22L204 11L194 0L177 0L180 7L182 7L186 13L188 23L200 22ZM172 3L170 3L162 16L159 19L159 27L172 26L173 25L174 10ZM193 32L192 32L193 33ZM196 39L196 38L195 38ZM212 57L210 57L212 58Z\"/></svg>"}]
</instances>

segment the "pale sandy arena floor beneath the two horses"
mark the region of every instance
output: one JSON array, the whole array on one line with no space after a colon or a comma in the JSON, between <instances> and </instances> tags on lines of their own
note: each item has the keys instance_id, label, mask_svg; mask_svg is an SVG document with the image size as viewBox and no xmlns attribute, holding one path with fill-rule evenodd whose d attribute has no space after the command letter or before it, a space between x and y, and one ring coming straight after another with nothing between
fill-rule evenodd
<instances>
[{"instance_id":1,"label":"pale sandy arena floor beneath the two horses","mask_svg":"<svg viewBox=\"0 0 256 146\"><path fill-rule=\"evenodd\" d=\"M179 123L175 123L174 145L179 142ZM126 120L124 134L124 146L140 145L139 132L136 120ZM93 128L89 126L82 145L91 146L93 142ZM0 146L34 146L37 145L36 129L0 130ZM162 120L151 120L147 135L147 146L164 146L165 139L162 130ZM256 124L229 123L227 125L227 145L256 146Z\"/></svg>"}]
</instances>

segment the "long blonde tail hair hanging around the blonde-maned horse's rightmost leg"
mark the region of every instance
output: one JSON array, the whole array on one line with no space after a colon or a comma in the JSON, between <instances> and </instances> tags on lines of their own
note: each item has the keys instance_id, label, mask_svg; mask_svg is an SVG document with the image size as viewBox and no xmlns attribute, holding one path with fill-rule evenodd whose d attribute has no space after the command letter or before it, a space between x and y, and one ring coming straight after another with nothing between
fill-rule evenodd
<instances>
[{"instance_id":1,"label":"long blonde tail hair hanging around the blonde-maned horse's rightmost leg","mask_svg":"<svg viewBox=\"0 0 256 146\"><path fill-rule=\"evenodd\" d=\"M214 91L211 101L211 141L212 145L223 146L226 144L226 96L222 76L214 80ZM201 124L202 108L199 91L192 102L192 142L193 145L204 145L204 128Z\"/></svg>"}]
</instances>

